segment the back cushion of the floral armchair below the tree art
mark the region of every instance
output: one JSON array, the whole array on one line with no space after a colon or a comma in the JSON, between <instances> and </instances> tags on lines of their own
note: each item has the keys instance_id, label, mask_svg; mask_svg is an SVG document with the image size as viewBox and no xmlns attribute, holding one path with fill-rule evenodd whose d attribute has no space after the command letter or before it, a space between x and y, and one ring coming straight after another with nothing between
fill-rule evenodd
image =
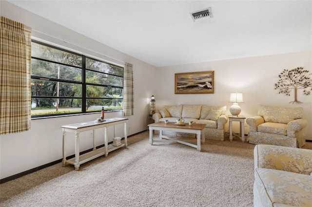
<instances>
[{"instance_id":1,"label":"back cushion of the floral armchair below the tree art","mask_svg":"<svg viewBox=\"0 0 312 207\"><path fill-rule=\"evenodd\" d=\"M289 123L290 121L301 119L302 107L286 108L278 106L259 105L258 115L264 118L265 122Z\"/></svg>"}]
</instances>

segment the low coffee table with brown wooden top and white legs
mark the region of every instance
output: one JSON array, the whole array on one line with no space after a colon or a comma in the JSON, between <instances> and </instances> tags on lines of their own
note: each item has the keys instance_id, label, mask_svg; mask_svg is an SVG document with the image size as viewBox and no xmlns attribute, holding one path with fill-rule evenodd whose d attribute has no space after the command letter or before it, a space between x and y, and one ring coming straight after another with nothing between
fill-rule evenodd
<instances>
[{"instance_id":1,"label":"low coffee table with brown wooden top and white legs","mask_svg":"<svg viewBox=\"0 0 312 207\"><path fill-rule=\"evenodd\" d=\"M149 130L150 130L150 144L153 145L154 142L178 142L181 144L185 144L191 147L195 147L197 150L200 151L200 140L201 143L205 143L205 128L206 124L203 123L194 123L192 126L190 126L188 123L185 123L185 125L176 125L172 122L166 123L164 121L159 121L156 123L149 124ZM155 140L153 139L153 130L159 130L159 138L161 140ZM182 140L178 140L176 138L170 138L167 136L162 135L162 131L174 131L174 132L184 132L184 133L192 133L196 134L197 137L197 145L185 142ZM163 140L162 138L165 138L166 140Z\"/></svg>"}]
</instances>

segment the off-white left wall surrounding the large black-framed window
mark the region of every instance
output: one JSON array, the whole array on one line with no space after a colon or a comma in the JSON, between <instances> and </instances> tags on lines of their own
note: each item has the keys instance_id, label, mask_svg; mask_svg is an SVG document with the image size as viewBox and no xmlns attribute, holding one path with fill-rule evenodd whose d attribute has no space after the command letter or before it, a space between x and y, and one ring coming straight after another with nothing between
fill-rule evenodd
<instances>
[{"instance_id":1,"label":"off-white left wall surrounding the large black-framed window","mask_svg":"<svg viewBox=\"0 0 312 207\"><path fill-rule=\"evenodd\" d=\"M32 37L35 39L57 44L59 47L92 55L118 65L123 65L123 62L132 63L134 65L135 82L135 115L127 117L129 118L128 135L147 129L147 116L150 112L149 99L154 93L152 88L156 86L155 82L150 81L152 77L156 76L155 67L20 9L7 1L0 0L0 9L1 16L31 26L33 29ZM0 136L0 179L62 158L62 132L60 126L93 121L99 116L100 112L98 114L32 120L31 129L28 132ZM111 112L105 114L105 117L123 117L123 115L122 112ZM123 134L120 134L119 131L123 130L118 130L117 136L123 137ZM112 132L113 129L109 129L109 134L112 134ZM98 132L95 135L97 145L103 144L103 133ZM75 138L73 135L68 136L67 155L73 155L75 152L73 142ZM112 136L110 136L109 141L112 141L111 139ZM92 148L89 133L81 134L80 143L81 151Z\"/></svg>"}]
</instances>

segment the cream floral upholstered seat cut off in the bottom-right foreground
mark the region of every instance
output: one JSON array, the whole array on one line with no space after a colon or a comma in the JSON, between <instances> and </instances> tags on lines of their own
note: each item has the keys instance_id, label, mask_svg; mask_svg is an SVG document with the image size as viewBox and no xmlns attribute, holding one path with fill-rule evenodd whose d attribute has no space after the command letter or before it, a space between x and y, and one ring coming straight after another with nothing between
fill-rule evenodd
<instances>
[{"instance_id":1,"label":"cream floral upholstered seat cut off in the bottom-right foreground","mask_svg":"<svg viewBox=\"0 0 312 207\"><path fill-rule=\"evenodd\" d=\"M254 147L254 207L312 207L312 150Z\"/></svg>"}]
</instances>

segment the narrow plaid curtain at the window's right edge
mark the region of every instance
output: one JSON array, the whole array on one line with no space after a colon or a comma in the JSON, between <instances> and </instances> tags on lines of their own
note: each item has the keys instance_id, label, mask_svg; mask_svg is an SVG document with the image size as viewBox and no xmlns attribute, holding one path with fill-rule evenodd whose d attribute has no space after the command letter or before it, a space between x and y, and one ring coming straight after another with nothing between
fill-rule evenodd
<instances>
[{"instance_id":1,"label":"narrow plaid curtain at the window's right edge","mask_svg":"<svg viewBox=\"0 0 312 207\"><path fill-rule=\"evenodd\" d=\"M123 75L123 116L134 115L133 65L125 63Z\"/></svg>"}]
</instances>

